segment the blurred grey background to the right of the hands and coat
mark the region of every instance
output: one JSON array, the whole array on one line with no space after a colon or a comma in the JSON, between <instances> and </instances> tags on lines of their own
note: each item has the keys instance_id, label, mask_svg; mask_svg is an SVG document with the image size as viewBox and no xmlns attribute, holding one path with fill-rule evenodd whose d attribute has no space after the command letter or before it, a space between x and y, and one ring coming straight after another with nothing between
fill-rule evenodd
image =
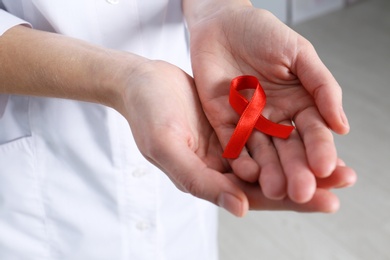
<instances>
[{"instance_id":1,"label":"blurred grey background to the right of the hands and coat","mask_svg":"<svg viewBox=\"0 0 390 260\"><path fill-rule=\"evenodd\" d=\"M351 132L335 138L358 182L335 191L335 214L221 210L220 259L390 259L390 1L252 2L310 40L342 86Z\"/></svg>"}]
</instances>

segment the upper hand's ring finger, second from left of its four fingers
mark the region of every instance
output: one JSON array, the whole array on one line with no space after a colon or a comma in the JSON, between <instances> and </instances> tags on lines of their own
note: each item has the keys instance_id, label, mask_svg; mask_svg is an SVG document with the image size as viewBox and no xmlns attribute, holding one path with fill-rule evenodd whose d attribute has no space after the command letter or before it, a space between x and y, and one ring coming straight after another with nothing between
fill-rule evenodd
<instances>
[{"instance_id":1,"label":"upper hand's ring finger, second from left of its four fingers","mask_svg":"<svg viewBox=\"0 0 390 260\"><path fill-rule=\"evenodd\" d=\"M249 138L247 147L260 166L259 184L264 196L269 199L284 198L287 181L271 138L256 131Z\"/></svg>"}]
</instances>

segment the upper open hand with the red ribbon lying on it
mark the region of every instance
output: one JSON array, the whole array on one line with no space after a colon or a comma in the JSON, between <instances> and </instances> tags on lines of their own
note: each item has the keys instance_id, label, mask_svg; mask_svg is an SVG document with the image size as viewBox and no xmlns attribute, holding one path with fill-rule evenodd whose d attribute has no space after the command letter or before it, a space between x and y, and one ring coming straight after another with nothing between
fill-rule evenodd
<instances>
[{"instance_id":1,"label":"upper open hand with the red ribbon lying on it","mask_svg":"<svg viewBox=\"0 0 390 260\"><path fill-rule=\"evenodd\" d=\"M233 172L248 182L258 180L267 198L284 198L287 187L292 201L308 202L316 192L315 177L328 177L337 166L331 130L349 131L341 89L307 40L265 10L228 2L216 10L209 4L207 16L189 21L202 106L225 147L239 118L228 104L230 81L256 76L267 95L263 115L293 122L296 131L287 140L254 131L246 150L230 161Z\"/></svg>"}]
</instances>

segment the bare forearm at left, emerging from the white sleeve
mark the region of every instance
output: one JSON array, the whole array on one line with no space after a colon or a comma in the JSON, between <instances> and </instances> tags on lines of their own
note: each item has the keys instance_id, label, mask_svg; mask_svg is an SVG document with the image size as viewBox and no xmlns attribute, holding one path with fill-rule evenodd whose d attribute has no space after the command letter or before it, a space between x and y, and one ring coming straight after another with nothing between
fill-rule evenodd
<instances>
[{"instance_id":1,"label":"bare forearm at left, emerging from the white sleeve","mask_svg":"<svg viewBox=\"0 0 390 260\"><path fill-rule=\"evenodd\" d=\"M141 57L24 26L0 37L0 93L113 106ZM123 85L123 84L122 84Z\"/></svg>"}]
</instances>

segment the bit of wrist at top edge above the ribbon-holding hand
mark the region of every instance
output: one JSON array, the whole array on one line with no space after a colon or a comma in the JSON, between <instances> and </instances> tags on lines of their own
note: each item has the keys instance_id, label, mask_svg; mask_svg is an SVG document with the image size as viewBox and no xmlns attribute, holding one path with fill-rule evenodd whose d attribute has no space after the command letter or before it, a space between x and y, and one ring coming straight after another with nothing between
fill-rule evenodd
<instances>
[{"instance_id":1,"label":"bit of wrist at top edge above the ribbon-holding hand","mask_svg":"<svg viewBox=\"0 0 390 260\"><path fill-rule=\"evenodd\" d=\"M252 6L252 3L249 0L183 0L183 13L188 27L191 28L197 22L214 16L222 7L239 6Z\"/></svg>"}]
</instances>

